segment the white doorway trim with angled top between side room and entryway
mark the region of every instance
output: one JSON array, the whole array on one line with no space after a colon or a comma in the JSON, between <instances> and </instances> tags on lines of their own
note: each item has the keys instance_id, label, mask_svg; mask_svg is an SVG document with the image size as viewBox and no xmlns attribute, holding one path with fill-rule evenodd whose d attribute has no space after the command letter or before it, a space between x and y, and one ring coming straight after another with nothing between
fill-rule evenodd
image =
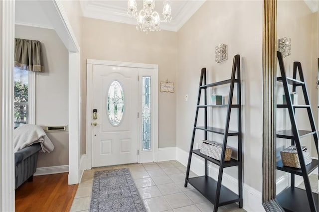
<instances>
[{"instance_id":1,"label":"white doorway trim with angled top between side room and entryway","mask_svg":"<svg viewBox=\"0 0 319 212\"><path fill-rule=\"evenodd\" d=\"M68 184L80 182L80 46L60 0L39 1L51 24L69 51L69 176Z\"/></svg>"}]
</instances>

